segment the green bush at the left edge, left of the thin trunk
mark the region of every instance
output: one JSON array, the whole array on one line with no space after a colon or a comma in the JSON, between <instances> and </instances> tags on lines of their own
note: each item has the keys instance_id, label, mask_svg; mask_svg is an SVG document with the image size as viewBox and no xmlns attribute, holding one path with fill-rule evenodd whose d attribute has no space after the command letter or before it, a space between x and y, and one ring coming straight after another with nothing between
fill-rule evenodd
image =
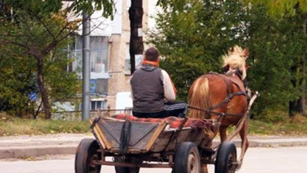
<instances>
[{"instance_id":1,"label":"green bush at the left edge, left of the thin trunk","mask_svg":"<svg viewBox=\"0 0 307 173\"><path fill-rule=\"evenodd\" d=\"M17 50L18 51L18 50ZM31 92L36 90L34 81L33 61L26 58L15 58L1 55L0 62L0 110L13 111L21 116L32 111L33 104L29 99ZM18 68L17 68L18 67Z\"/></svg>"}]
</instances>

